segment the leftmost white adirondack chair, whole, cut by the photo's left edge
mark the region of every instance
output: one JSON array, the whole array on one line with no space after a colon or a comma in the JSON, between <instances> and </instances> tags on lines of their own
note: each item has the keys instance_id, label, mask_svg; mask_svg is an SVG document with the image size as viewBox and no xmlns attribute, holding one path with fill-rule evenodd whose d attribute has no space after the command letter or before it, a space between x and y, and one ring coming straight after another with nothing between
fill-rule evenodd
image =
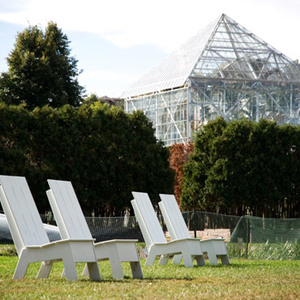
<instances>
[{"instance_id":1,"label":"leftmost white adirondack chair, whole, cut by the photo's left edge","mask_svg":"<svg viewBox=\"0 0 300 300\"><path fill-rule=\"evenodd\" d=\"M19 261L13 278L24 278L28 265L42 262L38 278L49 276L52 265L63 261L68 280L77 280L76 263L87 262L90 278L100 280L92 241L49 241L24 177L0 176L0 200Z\"/></svg>"}]
</instances>

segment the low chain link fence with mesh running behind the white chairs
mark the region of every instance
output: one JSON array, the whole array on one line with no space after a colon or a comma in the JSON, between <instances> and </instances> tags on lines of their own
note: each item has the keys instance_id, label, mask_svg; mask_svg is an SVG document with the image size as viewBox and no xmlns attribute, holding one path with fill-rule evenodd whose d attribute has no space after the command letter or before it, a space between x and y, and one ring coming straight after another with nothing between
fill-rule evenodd
<instances>
[{"instance_id":1,"label":"low chain link fence with mesh running behind the white chairs","mask_svg":"<svg viewBox=\"0 0 300 300\"><path fill-rule=\"evenodd\" d=\"M161 214L158 212L157 215L169 238ZM0 218L0 243L10 243L10 232L3 217ZM51 214L41 217L44 223L55 225ZM183 212L183 217L192 237L223 237L230 257L300 259L300 218L238 217L199 211ZM110 239L137 239L144 242L134 216L86 217L86 220L97 242ZM54 233L50 230L48 235L52 234L53 237Z\"/></svg>"}]
</instances>

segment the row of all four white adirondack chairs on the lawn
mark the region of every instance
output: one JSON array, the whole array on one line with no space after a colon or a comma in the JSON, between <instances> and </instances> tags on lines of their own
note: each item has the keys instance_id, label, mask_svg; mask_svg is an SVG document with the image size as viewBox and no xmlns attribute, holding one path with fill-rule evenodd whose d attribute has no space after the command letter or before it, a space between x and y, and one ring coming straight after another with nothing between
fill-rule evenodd
<instances>
[{"instance_id":1,"label":"row of all four white adirondack chairs on the lawn","mask_svg":"<svg viewBox=\"0 0 300 300\"><path fill-rule=\"evenodd\" d=\"M50 242L24 177L0 176L0 200L16 246L19 261L13 278L24 278L30 263L41 262L38 278L49 276L53 263L62 261L63 275L77 280L76 264L86 263L84 274L100 281L98 262L109 260L114 279L123 279L122 263L129 262L133 278L143 278L137 250L137 240L114 239L95 243L72 183L48 180L46 192L57 222L61 240ZM138 220L148 257L145 265L154 263L160 256L160 264L166 264L170 256L173 262L183 258L186 267L193 267L193 259L204 265L203 253L207 252L210 264L217 264L219 256L223 264L229 259L223 239L199 240L190 238L189 231L173 195L160 195L159 203L172 241L167 242L148 194L133 192L131 201Z\"/></svg>"}]
</instances>

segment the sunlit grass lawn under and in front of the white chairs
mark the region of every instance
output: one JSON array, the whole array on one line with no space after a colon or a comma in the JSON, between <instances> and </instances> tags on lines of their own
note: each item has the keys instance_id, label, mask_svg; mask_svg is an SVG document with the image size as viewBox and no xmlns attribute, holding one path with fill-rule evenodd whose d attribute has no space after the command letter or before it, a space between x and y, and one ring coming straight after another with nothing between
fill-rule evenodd
<instances>
[{"instance_id":1,"label":"sunlit grass lawn under and in front of the white chairs","mask_svg":"<svg viewBox=\"0 0 300 300\"><path fill-rule=\"evenodd\" d=\"M183 265L144 266L143 280L133 280L128 264L125 279L113 281L108 262L99 264L102 281L61 278L62 263L47 279L35 279L32 264L26 279L13 280L16 256L0 256L0 299L300 299L300 261L231 259L230 266L185 268ZM83 264L77 266L81 274Z\"/></svg>"}]
</instances>

